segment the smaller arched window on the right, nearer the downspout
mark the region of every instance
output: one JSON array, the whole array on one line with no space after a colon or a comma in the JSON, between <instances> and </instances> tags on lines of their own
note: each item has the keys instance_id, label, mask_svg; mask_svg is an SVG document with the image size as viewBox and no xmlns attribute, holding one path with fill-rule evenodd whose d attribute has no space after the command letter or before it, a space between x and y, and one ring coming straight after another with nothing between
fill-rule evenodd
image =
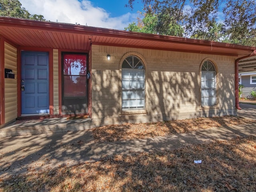
<instances>
[{"instance_id":1,"label":"smaller arched window on the right, nearer the downspout","mask_svg":"<svg viewBox=\"0 0 256 192\"><path fill-rule=\"evenodd\" d=\"M202 65L201 76L201 105L212 106L216 104L216 70L209 60Z\"/></svg>"}]
</instances>

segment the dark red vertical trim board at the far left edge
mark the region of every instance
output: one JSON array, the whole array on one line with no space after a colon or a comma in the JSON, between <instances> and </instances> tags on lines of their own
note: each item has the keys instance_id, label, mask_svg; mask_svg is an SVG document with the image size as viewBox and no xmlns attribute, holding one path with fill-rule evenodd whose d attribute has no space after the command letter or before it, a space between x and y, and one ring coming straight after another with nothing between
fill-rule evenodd
<instances>
[{"instance_id":1,"label":"dark red vertical trim board at the far left edge","mask_svg":"<svg viewBox=\"0 0 256 192\"><path fill-rule=\"evenodd\" d=\"M0 38L0 125L5 123L4 107L4 40Z\"/></svg>"}]
</instances>

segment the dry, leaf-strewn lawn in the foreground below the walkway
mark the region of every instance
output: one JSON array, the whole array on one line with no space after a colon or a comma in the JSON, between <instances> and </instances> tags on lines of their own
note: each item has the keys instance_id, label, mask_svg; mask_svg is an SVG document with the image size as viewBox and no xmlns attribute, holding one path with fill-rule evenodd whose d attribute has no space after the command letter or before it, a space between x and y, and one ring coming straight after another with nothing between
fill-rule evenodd
<instances>
[{"instance_id":1,"label":"dry, leaf-strewn lawn in the foreground below the walkway","mask_svg":"<svg viewBox=\"0 0 256 192\"><path fill-rule=\"evenodd\" d=\"M194 160L202 160L195 164ZM256 137L112 155L0 180L0 192L256 191Z\"/></svg>"}]
</instances>

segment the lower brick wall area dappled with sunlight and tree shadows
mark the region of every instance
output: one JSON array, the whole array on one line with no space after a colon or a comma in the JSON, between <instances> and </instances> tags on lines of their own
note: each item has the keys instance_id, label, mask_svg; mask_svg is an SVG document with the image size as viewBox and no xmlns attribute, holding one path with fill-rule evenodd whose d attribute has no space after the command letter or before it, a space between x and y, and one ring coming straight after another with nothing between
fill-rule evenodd
<instances>
[{"instance_id":1,"label":"lower brick wall area dappled with sunlight and tree shadows","mask_svg":"<svg viewBox=\"0 0 256 192\"><path fill-rule=\"evenodd\" d=\"M124 122L156 122L162 120L197 118L208 116L236 115L234 75L217 77L216 103L212 109L201 108L200 75L198 68L187 66L185 72L147 71L145 86L146 113L122 114L120 98L121 71L99 70L92 77L92 118L98 125ZM185 69L185 67L184 67Z\"/></svg>"}]
</instances>

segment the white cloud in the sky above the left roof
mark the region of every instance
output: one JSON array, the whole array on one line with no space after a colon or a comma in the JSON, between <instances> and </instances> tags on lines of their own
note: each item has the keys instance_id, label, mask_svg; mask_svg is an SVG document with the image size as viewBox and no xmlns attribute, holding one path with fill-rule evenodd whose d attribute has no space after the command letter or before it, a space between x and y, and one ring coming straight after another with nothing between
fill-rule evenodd
<instances>
[{"instance_id":1,"label":"white cloud in the sky above the left roof","mask_svg":"<svg viewBox=\"0 0 256 192\"><path fill-rule=\"evenodd\" d=\"M20 0L30 14L42 14L46 20L81 24L102 28L124 30L137 18L137 14L126 13L110 17L103 8L94 7L88 0Z\"/></svg>"}]
</instances>

